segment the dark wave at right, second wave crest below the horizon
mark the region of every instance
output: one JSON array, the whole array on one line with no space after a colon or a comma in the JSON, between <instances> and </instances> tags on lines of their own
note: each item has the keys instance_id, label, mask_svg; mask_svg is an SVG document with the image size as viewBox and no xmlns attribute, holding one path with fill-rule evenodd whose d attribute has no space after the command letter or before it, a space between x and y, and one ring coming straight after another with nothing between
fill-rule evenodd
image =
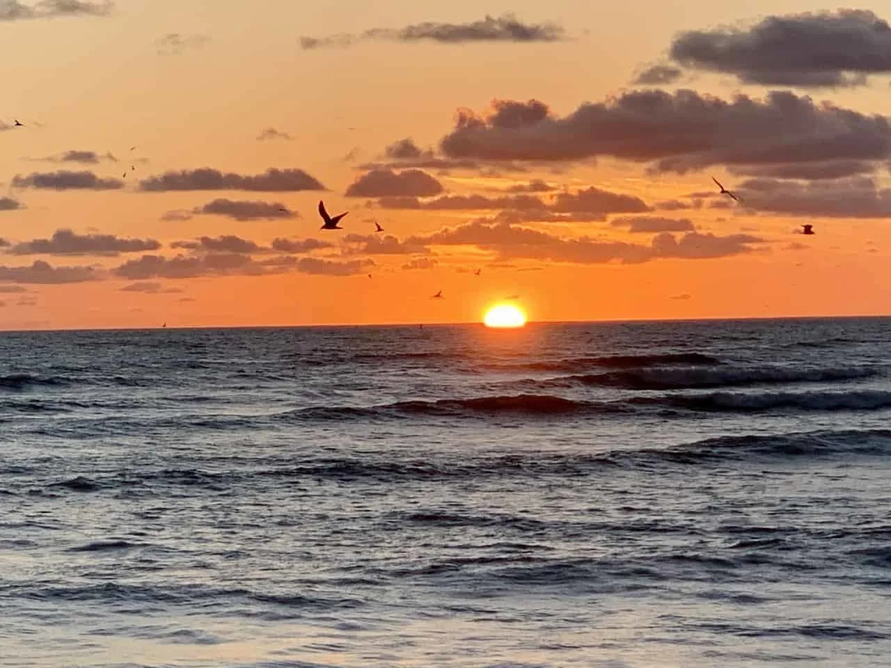
<instances>
[{"instance_id":1,"label":"dark wave at right, second wave crest below the horizon","mask_svg":"<svg viewBox=\"0 0 891 668\"><path fill-rule=\"evenodd\" d=\"M580 374L555 379L532 381L544 387L584 385L618 387L633 390L693 389L707 387L745 387L786 383L827 383L865 379L879 375L869 367L838 369L794 369L760 367L751 369L643 369Z\"/></svg>"}]
</instances>

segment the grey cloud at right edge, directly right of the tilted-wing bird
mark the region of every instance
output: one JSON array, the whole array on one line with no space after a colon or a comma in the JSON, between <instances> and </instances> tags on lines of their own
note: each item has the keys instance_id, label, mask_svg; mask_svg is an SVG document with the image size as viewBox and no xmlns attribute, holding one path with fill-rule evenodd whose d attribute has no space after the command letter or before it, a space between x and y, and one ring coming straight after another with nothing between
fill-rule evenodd
<instances>
[{"instance_id":1,"label":"grey cloud at right edge, directly right of the tilted-wing bird","mask_svg":"<svg viewBox=\"0 0 891 668\"><path fill-rule=\"evenodd\" d=\"M800 183L751 179L737 187L747 208L788 216L827 218L891 217L891 188L866 176Z\"/></svg>"}]
</instances>

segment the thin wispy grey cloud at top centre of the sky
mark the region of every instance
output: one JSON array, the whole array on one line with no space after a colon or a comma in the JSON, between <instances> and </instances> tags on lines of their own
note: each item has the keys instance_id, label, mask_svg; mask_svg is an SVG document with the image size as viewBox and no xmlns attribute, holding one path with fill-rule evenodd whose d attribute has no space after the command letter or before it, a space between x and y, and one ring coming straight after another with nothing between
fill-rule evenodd
<instances>
[{"instance_id":1,"label":"thin wispy grey cloud at top centre of the sky","mask_svg":"<svg viewBox=\"0 0 891 668\"><path fill-rule=\"evenodd\" d=\"M467 42L556 42L565 39L564 30L554 23L524 23L512 14L498 18L486 15L483 20L468 23L438 23L425 21L402 29L376 28L365 30L357 35L340 33L330 37L300 37L304 49L323 46L350 46L358 42L392 41L420 42L431 41L440 44L462 44Z\"/></svg>"}]
</instances>

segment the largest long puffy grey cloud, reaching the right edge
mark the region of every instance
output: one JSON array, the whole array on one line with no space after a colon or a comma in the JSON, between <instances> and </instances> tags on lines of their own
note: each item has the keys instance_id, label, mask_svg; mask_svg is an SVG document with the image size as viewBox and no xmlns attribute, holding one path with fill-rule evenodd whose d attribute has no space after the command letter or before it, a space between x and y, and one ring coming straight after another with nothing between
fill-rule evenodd
<instances>
[{"instance_id":1,"label":"largest long puffy grey cloud, reaching the right edge","mask_svg":"<svg viewBox=\"0 0 891 668\"><path fill-rule=\"evenodd\" d=\"M788 91L726 102L691 90L650 89L585 102L562 118L535 100L495 101L485 117L459 110L440 147L451 158L609 156L683 174L712 165L887 159L891 125L881 116L815 104Z\"/></svg>"}]
</instances>

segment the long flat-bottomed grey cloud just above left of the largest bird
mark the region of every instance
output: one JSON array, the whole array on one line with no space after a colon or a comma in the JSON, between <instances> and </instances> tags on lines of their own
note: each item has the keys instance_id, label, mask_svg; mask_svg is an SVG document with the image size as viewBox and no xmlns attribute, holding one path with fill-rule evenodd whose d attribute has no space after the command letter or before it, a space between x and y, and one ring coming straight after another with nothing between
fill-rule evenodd
<instances>
[{"instance_id":1,"label":"long flat-bottomed grey cloud just above left of the largest bird","mask_svg":"<svg viewBox=\"0 0 891 668\"><path fill-rule=\"evenodd\" d=\"M183 169L150 176L139 183L143 191L323 191L325 187L302 169L270 168L264 174L246 176L208 167Z\"/></svg>"}]
</instances>

